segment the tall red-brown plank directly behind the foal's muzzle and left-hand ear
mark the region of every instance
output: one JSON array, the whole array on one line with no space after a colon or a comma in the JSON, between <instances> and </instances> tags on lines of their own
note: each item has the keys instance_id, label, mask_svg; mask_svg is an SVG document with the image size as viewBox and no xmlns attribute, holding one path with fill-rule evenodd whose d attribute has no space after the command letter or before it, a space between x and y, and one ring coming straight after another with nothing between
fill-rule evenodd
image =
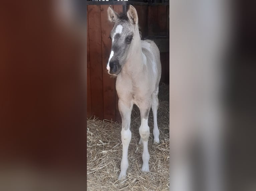
<instances>
[{"instance_id":1,"label":"tall red-brown plank directly behind the foal's muzzle and left-hand ear","mask_svg":"<svg viewBox=\"0 0 256 191\"><path fill-rule=\"evenodd\" d=\"M110 32L113 23L108 20L109 5L101 5L101 38L102 38L102 70L103 70L103 103L104 119L116 120L116 100L115 100L115 79L111 78L107 72L107 62L111 51Z\"/></svg>"}]
</instances>

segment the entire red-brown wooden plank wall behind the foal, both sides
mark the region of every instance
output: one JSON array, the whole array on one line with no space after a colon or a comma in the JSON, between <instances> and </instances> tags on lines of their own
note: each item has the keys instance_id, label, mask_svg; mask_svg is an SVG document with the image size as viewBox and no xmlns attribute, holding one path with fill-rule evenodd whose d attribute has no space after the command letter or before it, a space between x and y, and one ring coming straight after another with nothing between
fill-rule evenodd
<instances>
[{"instance_id":1,"label":"entire red-brown wooden plank wall behind the foal, both sides","mask_svg":"<svg viewBox=\"0 0 256 191\"><path fill-rule=\"evenodd\" d=\"M111 5L122 13L126 5ZM106 64L110 55L109 38L113 23L108 21L109 5L88 5L87 21L87 117L121 121L115 78L110 77ZM134 5L138 12L142 39L150 35L167 35L167 6ZM169 83L169 53L161 53L161 82ZM167 66L168 65L168 66Z\"/></svg>"}]
</instances>

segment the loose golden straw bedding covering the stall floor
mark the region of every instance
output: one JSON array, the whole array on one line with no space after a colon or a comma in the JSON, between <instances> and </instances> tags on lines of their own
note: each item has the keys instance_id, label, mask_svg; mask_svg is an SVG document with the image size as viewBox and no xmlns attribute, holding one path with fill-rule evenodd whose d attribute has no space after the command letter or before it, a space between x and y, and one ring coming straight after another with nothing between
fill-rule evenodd
<instances>
[{"instance_id":1,"label":"loose golden straw bedding covering the stall floor","mask_svg":"<svg viewBox=\"0 0 256 191\"><path fill-rule=\"evenodd\" d=\"M139 145L140 114L134 105L131 116L132 138L128 150L126 179L117 180L122 159L121 124L108 120L87 120L87 190L169 190L169 86L159 86L157 113L160 145L153 145L153 114L149 112L149 173L142 173L142 151Z\"/></svg>"}]
</instances>

